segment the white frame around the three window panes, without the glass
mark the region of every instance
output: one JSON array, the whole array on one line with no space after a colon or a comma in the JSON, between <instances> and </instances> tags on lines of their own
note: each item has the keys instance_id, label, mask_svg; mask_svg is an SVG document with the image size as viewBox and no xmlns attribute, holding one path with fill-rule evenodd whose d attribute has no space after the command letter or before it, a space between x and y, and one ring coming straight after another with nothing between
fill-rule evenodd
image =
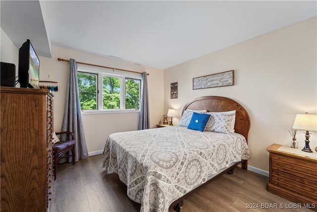
<instances>
[{"instance_id":1,"label":"white frame around the three window panes, without the glass","mask_svg":"<svg viewBox=\"0 0 317 212\"><path fill-rule=\"evenodd\" d=\"M91 67L78 66L78 72L97 74L97 109L81 110L82 115L87 114L109 114L109 113L140 113L139 109L125 109L125 79L140 80L140 98L141 98L141 83L142 74L134 74L124 71L113 71L111 69L96 69ZM104 76L120 78L120 109L104 109L103 108L103 79ZM141 99L140 99L141 101Z\"/></svg>"}]
</instances>

